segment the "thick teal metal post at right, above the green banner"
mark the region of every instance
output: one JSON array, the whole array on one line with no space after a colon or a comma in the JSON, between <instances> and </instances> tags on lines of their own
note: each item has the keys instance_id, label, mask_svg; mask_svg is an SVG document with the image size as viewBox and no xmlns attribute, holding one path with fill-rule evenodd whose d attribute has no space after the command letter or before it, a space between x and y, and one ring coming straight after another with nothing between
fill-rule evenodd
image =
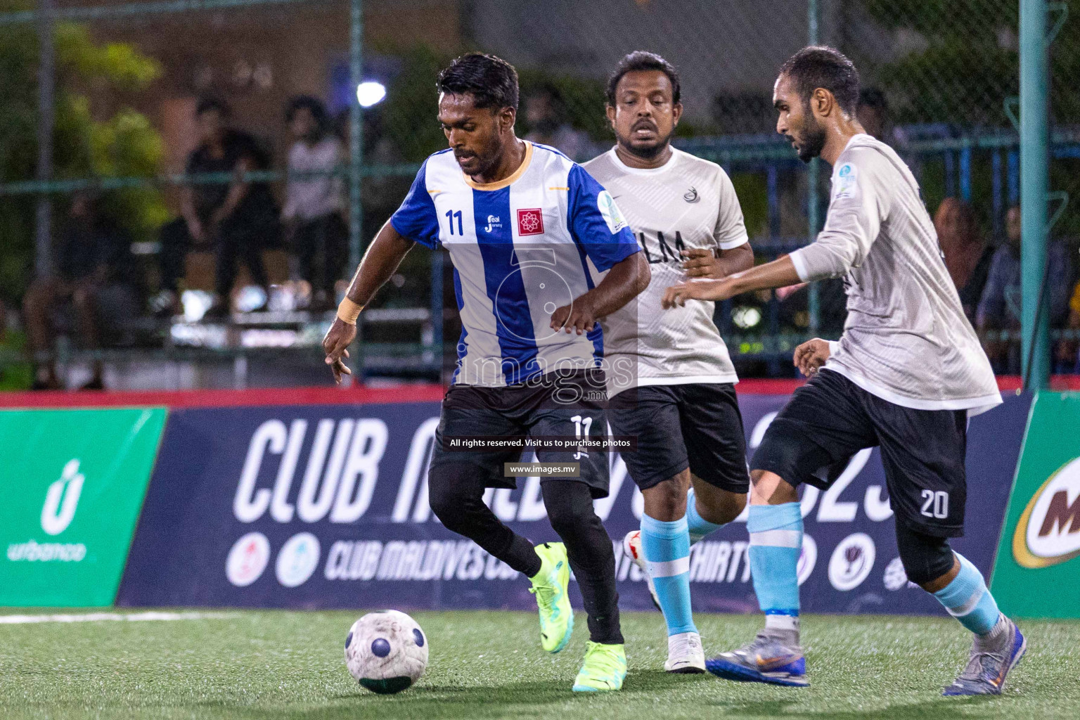
<instances>
[{"instance_id":1,"label":"thick teal metal post at right, above the green banner","mask_svg":"<svg viewBox=\"0 0 1080 720\"><path fill-rule=\"evenodd\" d=\"M1024 377L1029 386L1050 383L1050 313L1039 312L1047 264L1047 192L1050 185L1047 1L1020 3L1021 290Z\"/></svg>"}]
</instances>

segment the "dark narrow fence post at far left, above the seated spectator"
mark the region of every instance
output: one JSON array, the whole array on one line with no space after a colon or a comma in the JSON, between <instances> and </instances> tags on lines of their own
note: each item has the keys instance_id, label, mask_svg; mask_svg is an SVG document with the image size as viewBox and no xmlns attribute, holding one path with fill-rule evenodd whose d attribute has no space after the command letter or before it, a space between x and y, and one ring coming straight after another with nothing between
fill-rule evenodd
<instances>
[{"instance_id":1,"label":"dark narrow fence post at far left, above the seated spectator","mask_svg":"<svg viewBox=\"0 0 1080 720\"><path fill-rule=\"evenodd\" d=\"M37 179L53 177L53 124L56 116L56 49L53 40L53 0L38 0L38 168ZM53 201L48 192L38 195L35 218L33 271L38 277L52 274Z\"/></svg>"}]
</instances>

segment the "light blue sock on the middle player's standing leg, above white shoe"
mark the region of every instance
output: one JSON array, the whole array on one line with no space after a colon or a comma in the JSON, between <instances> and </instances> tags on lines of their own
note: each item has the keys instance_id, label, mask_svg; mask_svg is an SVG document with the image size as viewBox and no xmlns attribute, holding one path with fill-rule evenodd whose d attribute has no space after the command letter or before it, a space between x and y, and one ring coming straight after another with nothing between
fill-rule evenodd
<instances>
[{"instance_id":1,"label":"light blue sock on the middle player's standing leg, above white shoe","mask_svg":"<svg viewBox=\"0 0 1080 720\"><path fill-rule=\"evenodd\" d=\"M642 549L667 623L667 635L697 633L690 611L690 535L686 518L664 522L642 515Z\"/></svg>"}]
</instances>

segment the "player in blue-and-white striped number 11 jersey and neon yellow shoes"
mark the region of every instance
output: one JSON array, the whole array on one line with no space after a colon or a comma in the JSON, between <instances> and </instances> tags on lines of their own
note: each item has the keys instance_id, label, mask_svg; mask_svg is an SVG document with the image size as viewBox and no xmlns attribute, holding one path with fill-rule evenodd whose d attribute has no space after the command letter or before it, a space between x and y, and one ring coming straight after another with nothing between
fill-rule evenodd
<instances>
[{"instance_id":1,"label":"player in blue-and-white striped number 11 jersey and neon yellow shoes","mask_svg":"<svg viewBox=\"0 0 1080 720\"><path fill-rule=\"evenodd\" d=\"M595 321L648 285L649 267L596 180L557 150L514 135L518 89L510 64L463 55L440 73L437 87L450 148L424 161L365 254L323 341L326 363L336 379L349 371L343 358L362 307L415 243L449 252L462 330L428 475L431 507L446 528L529 578L549 652L563 650L573 629L572 568L591 637L573 690L619 690L626 656L615 553L593 511L593 500L608 493L606 453L583 444L537 450L541 462L578 473L541 480L563 543L534 548L483 500L487 488L515 487L504 464L521 460L521 446L462 449L453 438L602 437L604 338Z\"/></svg>"}]
</instances>

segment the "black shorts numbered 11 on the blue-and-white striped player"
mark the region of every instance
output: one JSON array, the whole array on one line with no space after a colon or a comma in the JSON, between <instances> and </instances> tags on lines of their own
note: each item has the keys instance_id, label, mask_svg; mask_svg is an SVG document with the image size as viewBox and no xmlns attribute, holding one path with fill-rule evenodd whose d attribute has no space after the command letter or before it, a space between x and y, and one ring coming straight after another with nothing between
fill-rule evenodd
<instances>
[{"instance_id":1,"label":"black shorts numbered 11 on the blue-and-white striped player","mask_svg":"<svg viewBox=\"0 0 1080 720\"><path fill-rule=\"evenodd\" d=\"M607 434L604 408L607 395L602 370L549 372L534 382L505 388L451 385L443 398L430 473L448 465L469 465L487 488L516 488L515 477L504 477L503 463L519 462L522 450L456 450L445 438L455 437L576 437L603 438ZM526 454L528 454L526 452ZM593 498L608 494L608 454L602 450L538 450L539 462L579 463L580 476L565 479L585 483ZM544 477L558 480L558 477Z\"/></svg>"}]
</instances>

